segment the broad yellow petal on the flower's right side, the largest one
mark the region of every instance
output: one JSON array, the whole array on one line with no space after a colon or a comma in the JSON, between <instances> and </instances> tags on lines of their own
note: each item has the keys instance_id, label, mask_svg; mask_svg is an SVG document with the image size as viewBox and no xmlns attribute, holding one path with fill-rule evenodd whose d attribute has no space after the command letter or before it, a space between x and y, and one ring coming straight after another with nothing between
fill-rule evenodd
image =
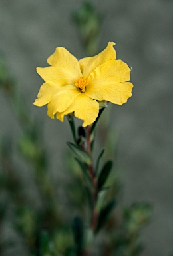
<instances>
[{"instance_id":1,"label":"broad yellow petal on the flower's right side, the largest one","mask_svg":"<svg viewBox=\"0 0 173 256\"><path fill-rule=\"evenodd\" d=\"M130 68L122 61L106 61L88 77L85 94L98 101L106 100L122 105L132 96Z\"/></svg>"}]
</instances>

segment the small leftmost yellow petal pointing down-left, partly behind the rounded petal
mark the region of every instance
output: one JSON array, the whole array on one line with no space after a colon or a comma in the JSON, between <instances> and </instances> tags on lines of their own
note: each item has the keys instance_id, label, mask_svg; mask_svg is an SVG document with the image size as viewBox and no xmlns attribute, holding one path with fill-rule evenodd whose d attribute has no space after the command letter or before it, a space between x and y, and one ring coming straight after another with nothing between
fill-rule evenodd
<instances>
[{"instance_id":1,"label":"small leftmost yellow petal pointing down-left, partly behind the rounded petal","mask_svg":"<svg viewBox=\"0 0 173 256\"><path fill-rule=\"evenodd\" d=\"M59 91L59 87L57 87L55 84L43 83L43 85L41 85L39 89L37 99L35 100L33 105L38 107L46 105L47 103L49 103L49 101L51 101L51 98L53 97L53 95L55 95L55 93L57 93L57 91Z\"/></svg>"}]
</instances>

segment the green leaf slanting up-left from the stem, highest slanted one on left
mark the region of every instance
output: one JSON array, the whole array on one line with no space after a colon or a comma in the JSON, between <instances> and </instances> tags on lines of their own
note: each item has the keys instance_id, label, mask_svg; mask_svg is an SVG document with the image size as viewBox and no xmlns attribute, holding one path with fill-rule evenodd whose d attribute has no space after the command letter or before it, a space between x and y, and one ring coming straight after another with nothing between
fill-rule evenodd
<instances>
[{"instance_id":1,"label":"green leaf slanting up-left from the stem, highest slanted one on left","mask_svg":"<svg viewBox=\"0 0 173 256\"><path fill-rule=\"evenodd\" d=\"M92 163L92 157L86 151L81 149L81 147L71 142L67 142L67 145L69 146L71 151L75 154L77 159L79 159L79 161L86 163L87 165L90 165Z\"/></svg>"}]
</instances>

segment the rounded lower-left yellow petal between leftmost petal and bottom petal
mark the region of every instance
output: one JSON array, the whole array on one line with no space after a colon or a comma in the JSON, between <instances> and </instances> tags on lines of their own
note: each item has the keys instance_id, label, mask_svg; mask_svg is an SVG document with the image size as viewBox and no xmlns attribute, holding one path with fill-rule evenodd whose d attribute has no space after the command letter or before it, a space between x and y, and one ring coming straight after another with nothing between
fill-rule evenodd
<instances>
[{"instance_id":1,"label":"rounded lower-left yellow petal between leftmost petal and bottom petal","mask_svg":"<svg viewBox=\"0 0 173 256\"><path fill-rule=\"evenodd\" d=\"M61 90L51 98L47 105L47 115L54 118L55 113L65 111L79 94L81 92L73 85L61 87Z\"/></svg>"}]
</instances>

